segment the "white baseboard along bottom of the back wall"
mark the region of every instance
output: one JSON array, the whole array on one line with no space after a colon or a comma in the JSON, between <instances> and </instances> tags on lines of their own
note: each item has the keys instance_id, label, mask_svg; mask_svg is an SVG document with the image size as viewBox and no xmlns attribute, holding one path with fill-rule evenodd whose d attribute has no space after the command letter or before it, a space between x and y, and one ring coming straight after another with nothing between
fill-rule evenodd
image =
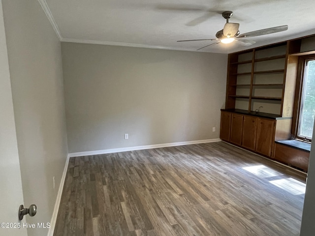
<instances>
[{"instance_id":1,"label":"white baseboard along bottom of the back wall","mask_svg":"<svg viewBox=\"0 0 315 236\"><path fill-rule=\"evenodd\" d=\"M189 144L214 143L214 142L220 142L220 141L221 139L205 139L205 140L196 140L196 141L187 141L187 142L179 142L179 143L169 143L169 144L155 144L155 145L127 147L127 148L114 148L114 149L105 149L105 150L96 150L96 151L82 151L82 152L69 153L69 156L70 157L89 156L89 155L99 155L99 154L122 152L122 151L134 151L134 150L143 150L143 149L151 149L151 148L166 148L166 147L182 146L182 145L189 145Z\"/></svg>"}]
</instances>

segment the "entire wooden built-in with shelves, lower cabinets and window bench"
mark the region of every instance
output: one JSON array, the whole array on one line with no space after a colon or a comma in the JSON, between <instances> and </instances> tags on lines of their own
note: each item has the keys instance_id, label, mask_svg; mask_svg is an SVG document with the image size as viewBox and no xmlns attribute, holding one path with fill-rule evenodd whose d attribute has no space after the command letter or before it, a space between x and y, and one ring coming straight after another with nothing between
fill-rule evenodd
<instances>
[{"instance_id":1,"label":"entire wooden built-in with shelves, lower cabinets and window bench","mask_svg":"<svg viewBox=\"0 0 315 236\"><path fill-rule=\"evenodd\" d=\"M223 141L307 171L308 154L275 140L291 137L299 57L315 54L314 41L311 35L228 55Z\"/></svg>"}]
</instances>

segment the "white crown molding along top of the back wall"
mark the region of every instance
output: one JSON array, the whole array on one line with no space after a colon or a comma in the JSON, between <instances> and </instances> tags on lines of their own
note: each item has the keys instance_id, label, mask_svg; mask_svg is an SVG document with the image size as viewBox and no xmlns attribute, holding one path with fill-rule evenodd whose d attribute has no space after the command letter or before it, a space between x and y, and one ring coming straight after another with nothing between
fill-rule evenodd
<instances>
[{"instance_id":1,"label":"white crown molding along top of the back wall","mask_svg":"<svg viewBox=\"0 0 315 236\"><path fill-rule=\"evenodd\" d=\"M195 49L191 49L191 48L176 48L176 47L165 47L165 46L137 44L137 43L98 41L98 40L89 40L89 39L62 38L60 41L69 42L69 43L87 43L87 44L101 44L101 45L111 45L111 46L124 46L124 47L152 48L152 49L166 49L166 50L196 52ZM208 52L201 52L201 51L198 51L198 52L199 53L208 53Z\"/></svg>"}]
</instances>

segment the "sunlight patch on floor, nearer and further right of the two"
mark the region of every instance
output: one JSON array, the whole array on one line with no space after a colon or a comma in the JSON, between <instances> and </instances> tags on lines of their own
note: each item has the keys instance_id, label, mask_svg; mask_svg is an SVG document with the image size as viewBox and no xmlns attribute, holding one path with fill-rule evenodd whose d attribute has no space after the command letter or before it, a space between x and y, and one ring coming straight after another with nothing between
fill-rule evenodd
<instances>
[{"instance_id":1,"label":"sunlight patch on floor, nearer and further right of the two","mask_svg":"<svg viewBox=\"0 0 315 236\"><path fill-rule=\"evenodd\" d=\"M294 178L282 178L278 180L272 180L269 182L293 195L305 193L306 184Z\"/></svg>"}]
</instances>

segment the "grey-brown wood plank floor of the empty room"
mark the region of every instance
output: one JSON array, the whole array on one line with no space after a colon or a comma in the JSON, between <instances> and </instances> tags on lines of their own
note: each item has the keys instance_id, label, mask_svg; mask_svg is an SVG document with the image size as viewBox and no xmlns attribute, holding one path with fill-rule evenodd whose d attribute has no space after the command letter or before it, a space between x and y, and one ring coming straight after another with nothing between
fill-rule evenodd
<instances>
[{"instance_id":1,"label":"grey-brown wood plank floor of the empty room","mask_svg":"<svg viewBox=\"0 0 315 236\"><path fill-rule=\"evenodd\" d=\"M73 157L54 236L298 236L290 178L224 142Z\"/></svg>"}]
</instances>

